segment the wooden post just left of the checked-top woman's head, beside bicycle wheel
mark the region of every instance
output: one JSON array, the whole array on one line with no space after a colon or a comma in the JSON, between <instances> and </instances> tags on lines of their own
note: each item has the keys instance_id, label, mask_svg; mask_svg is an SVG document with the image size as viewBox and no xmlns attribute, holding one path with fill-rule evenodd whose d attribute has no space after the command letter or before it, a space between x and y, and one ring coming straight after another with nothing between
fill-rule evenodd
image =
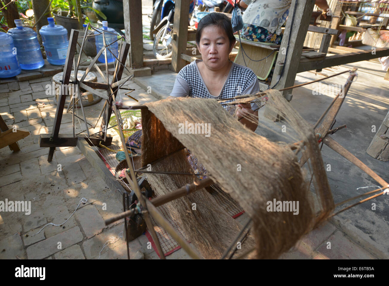
<instances>
[{"instance_id":1,"label":"wooden post just left of the checked-top woman's head, beside bicycle wheel","mask_svg":"<svg viewBox=\"0 0 389 286\"><path fill-rule=\"evenodd\" d=\"M186 53L189 6L190 3L187 0L175 2L173 32L176 36L172 40L172 70L174 72L179 72L186 65L186 61L181 58L181 53Z\"/></svg>"}]
</instances>

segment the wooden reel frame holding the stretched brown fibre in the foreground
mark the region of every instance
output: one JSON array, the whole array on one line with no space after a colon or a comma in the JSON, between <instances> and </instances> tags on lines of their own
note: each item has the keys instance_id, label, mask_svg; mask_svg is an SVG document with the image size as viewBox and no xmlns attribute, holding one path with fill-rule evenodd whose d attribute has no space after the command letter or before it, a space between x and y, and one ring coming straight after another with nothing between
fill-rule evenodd
<instances>
[{"instance_id":1,"label":"wooden reel frame holding the stretched brown fibre in the foreground","mask_svg":"<svg viewBox=\"0 0 389 286\"><path fill-rule=\"evenodd\" d=\"M326 144L331 149L333 149L334 151L336 151L337 153L339 153L340 155L345 157L347 160L349 160L350 162L355 164L357 167L361 168L361 170L366 172L366 174L373 177L373 179L375 179L382 186L382 188L375 189L374 191L370 191L370 192L363 194L363 195L368 195L368 194L376 193L375 195L372 195L371 197L365 198L364 200L361 200L360 202L358 202L356 204L350 205L349 207L346 207L345 209L337 211L336 213L328 214L328 218L330 218L330 217L332 217L332 216L334 216L334 215L336 215L336 214L338 214L346 209L349 209L352 206L355 206L357 204L361 204L362 202L366 202L367 200L370 200L372 198L383 195L385 193L385 191L387 191L387 189L386 190L384 190L384 189L389 187L388 183L384 179L379 177L373 170L371 170L364 163L362 163L360 160L358 160L354 155L352 155L349 151L347 151L344 147L342 147L335 140L333 140L331 137L329 137L329 134L333 134L337 130L344 127L344 126L340 126L338 128L331 129L333 126L333 121L335 119L335 116L338 113L338 111L339 111L339 109L344 101L345 96L347 95L347 91L349 90L350 85L351 85L354 77L356 76L356 68L354 68L353 70L349 70L349 72L350 72L350 76L347 79L347 82L344 86L344 89L340 93L340 94L343 94L344 97L340 97L338 94L335 97L335 99L333 100L333 102L331 103L331 105L328 107L328 109L324 112L324 114L322 114L321 118L317 121L315 126L312 126L312 127L314 128L315 132L318 132L317 135L319 135L319 136L316 136L316 137L319 140L319 142L322 142L322 144L323 143ZM264 93L259 93L256 96L261 97L263 95L264 95ZM245 97L249 97L249 96L250 95L242 96L240 98L245 98ZM142 110L147 109L147 107L145 105L137 105L137 106L127 107L127 108L128 109L140 108ZM115 112L117 112L116 108L115 108ZM319 123L321 123L321 124L319 125ZM322 135L320 135L319 133ZM122 140L122 143L124 144L124 137L123 137L122 133L121 133L121 140ZM291 144L290 147L293 150L299 149L299 148L301 148L301 143L303 143L303 142L297 142L295 144ZM128 162L130 162L130 157L128 156L128 154L127 154L127 160L128 160ZM300 165L301 166L304 165L307 160L308 160L308 157L305 156L305 154L303 154L303 156L301 157L301 160L300 160ZM131 168L130 164L129 164L129 166L130 166L130 168L128 169L128 172L129 172L131 177L134 177L134 175L135 175L134 170L133 170L133 168ZM128 180L130 180L130 177L128 176L128 174L126 173L125 175L126 175L126 178ZM142 213L145 212L146 210L148 212L150 212L151 215L153 216L153 218L159 223L159 225L163 226L163 228L165 228L165 230L179 243L180 246L182 246L182 248L184 248L187 251L187 253L192 258L200 258L200 257L198 255L198 253L196 253L196 251L193 250L187 244L186 240L183 239L183 237L181 237L178 233L176 233L175 230L173 230L172 226L156 210L156 207L159 205L162 205L162 204L166 204L167 202L170 202L170 201L175 200L177 198L180 198L182 196L188 195L189 193L198 191L198 190L205 188L207 186L210 186L212 184L214 184L214 181L212 181L211 179L208 178L208 179L202 180L198 184L193 183L189 187L182 186L181 188L178 188L175 191L172 191L171 193L164 195L163 197L157 197L157 198L152 199L151 201L144 200L144 202L142 202L140 200L140 202L139 202L141 209L143 210ZM137 184L133 184L133 188L136 190L138 188ZM139 189L136 192L138 193ZM379 193L377 193L377 192L379 192ZM349 202L350 200L354 200L356 198L362 197L363 195L359 195L357 197L350 198L344 202L337 204L336 206L342 205L345 202ZM117 221L119 219L125 218L126 216L132 216L134 213L137 213L137 210L133 209L130 211L123 212L122 214L119 214L118 216L116 216L114 218L107 219L105 221L105 223L107 225L109 225L110 223ZM249 232L249 229L248 229L249 222L250 222L250 220L247 222L247 224L244 226L242 231L239 233L238 237L235 240L233 240L233 243L231 244L231 246L228 249L226 249L226 253L223 256L223 258L228 257L228 256L230 256L230 257L232 256L232 254L230 254L230 252L234 248L236 242L239 241L240 238L242 238L242 235L247 235L247 233ZM160 254L161 254L161 252L160 252ZM163 258L163 255L161 255L160 257Z\"/></svg>"}]
</instances>

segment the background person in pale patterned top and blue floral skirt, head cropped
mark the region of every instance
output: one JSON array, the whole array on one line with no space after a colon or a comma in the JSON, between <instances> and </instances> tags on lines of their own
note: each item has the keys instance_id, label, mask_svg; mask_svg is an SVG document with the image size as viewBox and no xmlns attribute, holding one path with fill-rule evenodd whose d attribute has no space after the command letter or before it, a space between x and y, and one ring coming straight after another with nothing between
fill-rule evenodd
<instances>
[{"instance_id":1,"label":"background person in pale patterned top and blue floral skirt, head cropped","mask_svg":"<svg viewBox=\"0 0 389 286\"><path fill-rule=\"evenodd\" d=\"M289 14L292 0L241 0L240 7L247 8L243 13L244 22L240 36L254 42L267 42L279 45L282 40L281 27ZM327 12L326 0L316 0L315 4Z\"/></svg>"}]
</instances>

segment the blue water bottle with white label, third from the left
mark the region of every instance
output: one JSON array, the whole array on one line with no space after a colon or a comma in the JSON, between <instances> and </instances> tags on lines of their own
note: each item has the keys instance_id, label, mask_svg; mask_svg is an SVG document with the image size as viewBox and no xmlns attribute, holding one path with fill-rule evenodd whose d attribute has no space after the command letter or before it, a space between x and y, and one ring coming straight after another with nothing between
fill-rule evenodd
<instances>
[{"instance_id":1,"label":"blue water bottle with white label, third from the left","mask_svg":"<svg viewBox=\"0 0 389 286\"><path fill-rule=\"evenodd\" d=\"M46 51L46 58L52 65L65 65L68 53L68 30L61 25L55 25L54 18L47 18L49 25L39 30L42 44Z\"/></svg>"}]
</instances>

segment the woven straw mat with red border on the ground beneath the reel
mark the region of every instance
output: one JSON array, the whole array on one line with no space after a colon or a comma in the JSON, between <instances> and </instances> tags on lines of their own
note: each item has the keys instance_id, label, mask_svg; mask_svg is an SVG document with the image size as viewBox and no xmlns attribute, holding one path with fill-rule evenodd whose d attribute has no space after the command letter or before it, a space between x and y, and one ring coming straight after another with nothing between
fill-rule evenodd
<instances>
[{"instance_id":1,"label":"woven straw mat with red border on the ground beneath the reel","mask_svg":"<svg viewBox=\"0 0 389 286\"><path fill-rule=\"evenodd\" d=\"M109 148L112 150L119 150L121 149L121 146L112 145ZM107 166L107 168L114 175L115 168L119 164L119 162L116 160L116 153L112 153L111 151L102 148L101 150L99 150L99 155ZM233 218L237 218L238 216L244 213L244 210L237 204L237 202L235 202L235 200L230 197L230 195L224 193L217 187L215 187L214 189L215 191L211 193L212 197L216 200L217 204L219 204L230 216L232 216ZM163 215L163 217L173 226L174 230L179 232L185 239L187 239L187 237L182 232L180 226L177 225L175 221L173 221L173 219L171 218L166 207L161 205L157 207L157 209ZM181 248L179 244L160 225L158 225L158 223L154 221L152 217L151 221L154 225L154 231L156 232L158 240L161 243L161 247L165 256L168 256L169 254L172 254L174 251L177 251ZM158 251L156 250L156 245L152 240L151 234L148 230L146 230L145 235L151 242L151 246L154 251L156 251L156 253L158 254Z\"/></svg>"}]
</instances>

